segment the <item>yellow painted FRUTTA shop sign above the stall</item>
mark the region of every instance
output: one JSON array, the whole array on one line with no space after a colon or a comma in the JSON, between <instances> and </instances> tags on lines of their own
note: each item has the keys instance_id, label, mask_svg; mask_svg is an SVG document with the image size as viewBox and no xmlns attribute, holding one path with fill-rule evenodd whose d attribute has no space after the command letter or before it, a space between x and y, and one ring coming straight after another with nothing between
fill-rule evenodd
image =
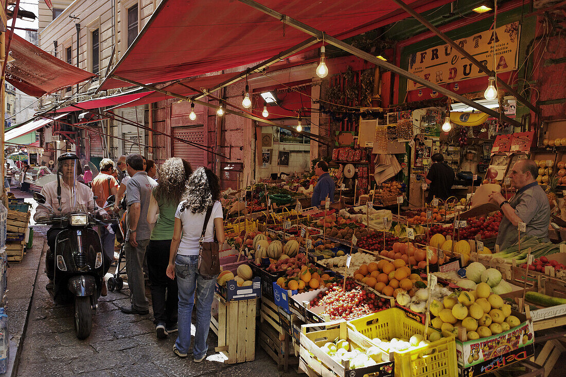
<instances>
[{"instance_id":1,"label":"yellow painted FRUTTA shop sign above the stall","mask_svg":"<svg viewBox=\"0 0 566 377\"><path fill-rule=\"evenodd\" d=\"M487 65L490 70L507 72L517 69L519 36L520 25L518 22L513 22L498 27L495 35L488 30L455 42L479 62ZM458 82L486 75L448 44L411 54L409 72L435 84ZM421 84L409 80L409 90L422 87Z\"/></svg>"}]
</instances>

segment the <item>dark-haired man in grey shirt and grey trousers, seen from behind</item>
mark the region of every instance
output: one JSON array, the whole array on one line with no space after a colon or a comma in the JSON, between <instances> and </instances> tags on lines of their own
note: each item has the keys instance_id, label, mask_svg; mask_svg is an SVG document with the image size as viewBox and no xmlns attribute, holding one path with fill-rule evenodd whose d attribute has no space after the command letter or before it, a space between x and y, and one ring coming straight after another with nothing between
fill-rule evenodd
<instances>
[{"instance_id":1,"label":"dark-haired man in grey shirt and grey trousers, seen from behind","mask_svg":"<svg viewBox=\"0 0 566 377\"><path fill-rule=\"evenodd\" d=\"M148 314L148 299L145 297L143 262L145 249L149 243L151 229L147 222L147 210L151 191L157 183L147 176L143 169L141 155L128 155L126 169L130 175L126 185L126 272L130 287L131 306L122 306L120 310L126 314Z\"/></svg>"}]
</instances>

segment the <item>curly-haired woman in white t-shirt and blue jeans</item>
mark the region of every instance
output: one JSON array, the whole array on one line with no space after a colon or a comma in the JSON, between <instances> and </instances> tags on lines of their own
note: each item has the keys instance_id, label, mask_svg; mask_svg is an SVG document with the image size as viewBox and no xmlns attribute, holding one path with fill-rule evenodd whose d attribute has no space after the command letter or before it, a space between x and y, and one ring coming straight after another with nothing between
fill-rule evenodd
<instances>
[{"instance_id":1,"label":"curly-haired woman in white t-shirt and blue jeans","mask_svg":"<svg viewBox=\"0 0 566 377\"><path fill-rule=\"evenodd\" d=\"M177 276L179 286L179 335L173 352L179 357L187 357L191 345L191 315L196 290L196 333L192 356L199 363L207 355L208 329L217 277L200 275L198 269L199 239L207 211L211 211L211 215L204 242L224 243L218 177L210 169L196 169L188 180L184 199L175 213L175 229L167 267L167 276L171 279Z\"/></svg>"}]
</instances>

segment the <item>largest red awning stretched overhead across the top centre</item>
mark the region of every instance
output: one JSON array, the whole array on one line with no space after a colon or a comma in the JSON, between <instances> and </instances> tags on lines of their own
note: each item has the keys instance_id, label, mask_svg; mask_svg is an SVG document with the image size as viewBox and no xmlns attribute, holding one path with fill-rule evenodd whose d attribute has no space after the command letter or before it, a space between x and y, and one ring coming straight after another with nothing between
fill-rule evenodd
<instances>
[{"instance_id":1,"label":"largest red awning stretched overhead across the top centre","mask_svg":"<svg viewBox=\"0 0 566 377\"><path fill-rule=\"evenodd\" d=\"M418 12L449 0L412 0ZM391 0L262 0L328 35L344 39L408 16ZM167 82L271 58L306 33L234 0L163 0L110 75ZM311 46L315 48L317 46ZM109 78L101 89L130 86Z\"/></svg>"}]
</instances>

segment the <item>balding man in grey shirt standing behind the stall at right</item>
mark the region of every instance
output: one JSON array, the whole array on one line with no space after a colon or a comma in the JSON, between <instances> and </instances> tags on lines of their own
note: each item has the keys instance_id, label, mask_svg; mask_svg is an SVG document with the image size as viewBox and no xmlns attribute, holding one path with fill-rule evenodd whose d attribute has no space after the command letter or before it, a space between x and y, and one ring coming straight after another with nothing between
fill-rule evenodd
<instances>
[{"instance_id":1,"label":"balding man in grey shirt standing behind the stall at right","mask_svg":"<svg viewBox=\"0 0 566 377\"><path fill-rule=\"evenodd\" d=\"M549 241L550 205L546 193L535 180L537 174L538 166L534 161L517 161L509 174L511 186L517 188L513 198L507 201L501 192L495 191L490 195L491 202L498 204L504 215L496 241L500 249L518 241L517 228L520 222L526 224L526 232L521 236L534 235L541 241Z\"/></svg>"}]
</instances>

